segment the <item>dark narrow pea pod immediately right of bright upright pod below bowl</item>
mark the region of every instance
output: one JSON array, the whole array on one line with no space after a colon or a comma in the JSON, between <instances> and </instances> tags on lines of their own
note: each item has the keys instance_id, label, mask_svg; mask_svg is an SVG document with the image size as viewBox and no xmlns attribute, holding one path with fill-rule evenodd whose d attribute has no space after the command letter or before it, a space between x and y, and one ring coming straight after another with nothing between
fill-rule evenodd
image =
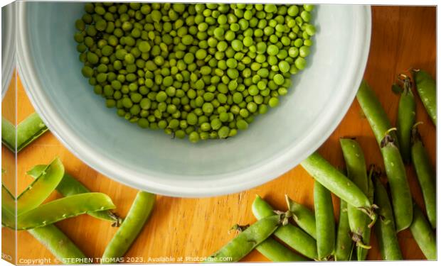
<instances>
[{"instance_id":1,"label":"dark narrow pea pod immediately right of bright upright pod below bowl","mask_svg":"<svg viewBox=\"0 0 441 266\"><path fill-rule=\"evenodd\" d=\"M354 241L351 238L351 228L349 227L348 208L346 201L340 200L339 226L337 228L335 260L351 260L354 252ZM355 256L354 256L355 257Z\"/></svg>"}]
</instances>

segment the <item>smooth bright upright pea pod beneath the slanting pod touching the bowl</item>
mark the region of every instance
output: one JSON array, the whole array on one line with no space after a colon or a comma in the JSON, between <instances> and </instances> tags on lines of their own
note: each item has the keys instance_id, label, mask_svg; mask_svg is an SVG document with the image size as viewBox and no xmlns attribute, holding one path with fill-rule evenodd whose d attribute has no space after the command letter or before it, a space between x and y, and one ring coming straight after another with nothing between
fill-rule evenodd
<instances>
[{"instance_id":1,"label":"smooth bright upright pea pod beneath the slanting pod touching the bowl","mask_svg":"<svg viewBox=\"0 0 441 266\"><path fill-rule=\"evenodd\" d=\"M314 213L317 227L317 255L327 260L334 253L335 221L331 192L319 182L314 182Z\"/></svg>"}]
</instances>

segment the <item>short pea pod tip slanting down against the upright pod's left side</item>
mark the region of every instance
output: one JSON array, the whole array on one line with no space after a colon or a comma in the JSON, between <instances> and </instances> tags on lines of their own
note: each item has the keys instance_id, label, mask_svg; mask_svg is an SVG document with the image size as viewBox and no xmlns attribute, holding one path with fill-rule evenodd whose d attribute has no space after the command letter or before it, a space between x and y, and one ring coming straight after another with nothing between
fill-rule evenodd
<instances>
[{"instance_id":1,"label":"short pea pod tip slanting down against the upright pod's left side","mask_svg":"<svg viewBox=\"0 0 441 266\"><path fill-rule=\"evenodd\" d=\"M317 239L314 212L306 206L289 199L288 195L285 195L285 199L287 201L288 209L291 211L292 218L294 218L297 226L302 228L303 231L309 233L314 239Z\"/></svg>"}]
</instances>

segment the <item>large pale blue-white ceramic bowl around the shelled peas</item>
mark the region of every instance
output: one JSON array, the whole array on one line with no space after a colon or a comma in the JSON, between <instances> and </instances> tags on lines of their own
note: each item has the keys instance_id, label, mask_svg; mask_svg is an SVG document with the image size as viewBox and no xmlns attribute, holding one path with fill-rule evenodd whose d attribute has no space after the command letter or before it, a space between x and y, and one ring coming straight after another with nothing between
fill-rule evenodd
<instances>
[{"instance_id":1,"label":"large pale blue-white ceramic bowl around the shelled peas","mask_svg":"<svg viewBox=\"0 0 441 266\"><path fill-rule=\"evenodd\" d=\"M76 156L108 177L170 196L230 194L287 172L339 124L363 77L371 38L368 6L319 6L309 67L277 109L227 140L171 139L106 109L80 73L73 23L82 3L18 4L18 65L33 106Z\"/></svg>"}]
</instances>

